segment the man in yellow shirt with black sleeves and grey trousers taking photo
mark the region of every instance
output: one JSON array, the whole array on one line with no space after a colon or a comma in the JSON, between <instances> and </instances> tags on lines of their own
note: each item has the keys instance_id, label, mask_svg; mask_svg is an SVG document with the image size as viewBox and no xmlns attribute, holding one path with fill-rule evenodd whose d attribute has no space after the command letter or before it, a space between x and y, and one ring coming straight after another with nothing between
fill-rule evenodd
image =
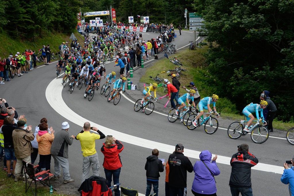
<instances>
[{"instance_id":1,"label":"man in yellow shirt with black sleeves and grey trousers taking photo","mask_svg":"<svg viewBox=\"0 0 294 196\"><path fill-rule=\"evenodd\" d=\"M90 133L90 129L97 131L98 134ZM91 127L89 122L84 123L83 131L81 131L76 136L76 140L80 140L81 142L81 149L83 154L82 183L85 181L85 179L89 177L91 167L94 176L100 175L100 165L98 160L98 154L95 149L95 140L103 138L105 138L105 135L96 127Z\"/></svg>"}]
</instances>

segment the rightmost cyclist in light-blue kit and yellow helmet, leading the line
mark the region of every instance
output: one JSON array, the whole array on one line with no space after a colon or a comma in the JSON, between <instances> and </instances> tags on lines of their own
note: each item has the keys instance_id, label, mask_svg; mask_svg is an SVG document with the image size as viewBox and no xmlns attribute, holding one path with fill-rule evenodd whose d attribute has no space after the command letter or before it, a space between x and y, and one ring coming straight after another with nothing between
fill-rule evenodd
<instances>
[{"instance_id":1,"label":"rightmost cyclist in light-blue kit and yellow helmet, leading the line","mask_svg":"<svg viewBox=\"0 0 294 196\"><path fill-rule=\"evenodd\" d=\"M254 112L255 112L256 118L259 120L259 122L264 121L263 109L266 108L267 105L268 105L267 101L261 100L260 104L258 104L258 103L255 103L255 104L250 103L249 105L247 105L243 109L242 113L246 116L246 119L248 120L248 122L247 122L245 128L243 129L243 131L250 132L248 130L248 126L250 126L252 124L252 121L254 120L254 116L252 114ZM260 112L260 118L259 118L258 112Z\"/></svg>"}]
</instances>

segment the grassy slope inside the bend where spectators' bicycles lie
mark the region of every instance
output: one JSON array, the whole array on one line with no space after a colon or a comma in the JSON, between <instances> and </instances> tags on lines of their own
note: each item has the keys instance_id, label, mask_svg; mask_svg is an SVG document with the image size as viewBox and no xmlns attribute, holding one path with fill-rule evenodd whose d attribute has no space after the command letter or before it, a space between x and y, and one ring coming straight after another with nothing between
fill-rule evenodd
<instances>
[{"instance_id":1,"label":"grassy slope inside the bend where spectators' bicycles lie","mask_svg":"<svg viewBox=\"0 0 294 196\"><path fill-rule=\"evenodd\" d=\"M186 68L189 72L183 72L187 76L180 75L180 83L181 86L188 84L193 81L198 88L198 91L201 95L201 98L211 96L212 94L218 94L216 92L216 88L214 88L214 83L217 81L214 80L212 75L209 73L207 69L207 65L205 63L204 54L207 52L208 46L203 46L203 48L197 48L196 50L179 50L176 54L168 55L168 58L177 56L178 60L186 65L182 68ZM156 77L157 74L159 78L167 78L171 83L172 79L170 76L167 76L168 73L161 73L162 71L167 71L169 69L174 69L176 65L172 62L169 62L167 58L163 58L161 60L157 60L153 66L148 67L146 70L146 74L142 76L140 82L146 83L146 86L154 83L154 81L149 78L149 76ZM183 88L180 88L179 95L183 95L187 93ZM156 90L157 97L161 97L166 95L163 91L163 87L159 87ZM239 111L237 111L235 104L233 104L227 98L220 97L216 103L217 111L221 112L221 116L225 118L230 118L232 120L240 121L244 119L244 115L241 115ZM273 121L273 127L275 129L288 130L291 127L294 127L294 121L283 122L275 119Z\"/></svg>"}]
</instances>

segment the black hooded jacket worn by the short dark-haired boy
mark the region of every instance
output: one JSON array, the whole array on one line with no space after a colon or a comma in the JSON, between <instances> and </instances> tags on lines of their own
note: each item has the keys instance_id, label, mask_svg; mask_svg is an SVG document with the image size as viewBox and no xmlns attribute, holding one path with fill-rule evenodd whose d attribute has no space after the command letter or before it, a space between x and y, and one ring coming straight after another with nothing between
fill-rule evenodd
<instances>
[{"instance_id":1,"label":"black hooded jacket worn by the short dark-haired boy","mask_svg":"<svg viewBox=\"0 0 294 196\"><path fill-rule=\"evenodd\" d=\"M145 170L147 179L158 180L160 177L159 172L164 170L162 161L156 155L151 155L146 159Z\"/></svg>"}]
</instances>

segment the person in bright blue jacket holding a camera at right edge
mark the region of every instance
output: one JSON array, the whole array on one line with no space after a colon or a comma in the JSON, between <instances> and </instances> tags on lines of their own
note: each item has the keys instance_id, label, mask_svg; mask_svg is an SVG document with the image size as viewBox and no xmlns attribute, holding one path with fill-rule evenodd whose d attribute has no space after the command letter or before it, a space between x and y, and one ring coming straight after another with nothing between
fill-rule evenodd
<instances>
[{"instance_id":1,"label":"person in bright blue jacket holding a camera at right edge","mask_svg":"<svg viewBox=\"0 0 294 196\"><path fill-rule=\"evenodd\" d=\"M289 168L289 164L293 165L294 157L290 161L284 163L284 173L281 177L281 182L285 185L289 184L289 193L294 196L294 167Z\"/></svg>"}]
</instances>

